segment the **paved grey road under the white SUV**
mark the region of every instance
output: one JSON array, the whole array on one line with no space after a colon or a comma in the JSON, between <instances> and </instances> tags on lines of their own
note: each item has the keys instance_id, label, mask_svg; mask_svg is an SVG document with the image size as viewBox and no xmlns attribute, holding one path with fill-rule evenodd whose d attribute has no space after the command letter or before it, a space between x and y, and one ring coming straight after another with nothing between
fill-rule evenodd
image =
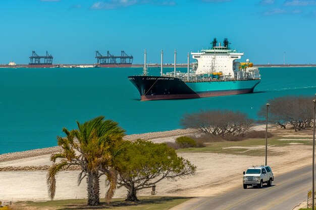
<instances>
[{"instance_id":1,"label":"paved grey road under the white SUV","mask_svg":"<svg viewBox=\"0 0 316 210\"><path fill-rule=\"evenodd\" d=\"M172 210L291 210L303 200L312 186L311 166L276 176L273 186L240 187L213 197L198 197Z\"/></svg>"}]
</instances>

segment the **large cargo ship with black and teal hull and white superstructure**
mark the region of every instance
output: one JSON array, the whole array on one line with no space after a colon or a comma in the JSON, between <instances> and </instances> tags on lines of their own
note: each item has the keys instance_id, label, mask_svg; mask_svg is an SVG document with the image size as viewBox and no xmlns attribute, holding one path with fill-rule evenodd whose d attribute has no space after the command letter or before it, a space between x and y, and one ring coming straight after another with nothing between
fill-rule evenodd
<instances>
[{"instance_id":1,"label":"large cargo ship with black and teal hull and white superstructure","mask_svg":"<svg viewBox=\"0 0 316 210\"><path fill-rule=\"evenodd\" d=\"M196 60L187 73L176 71L176 50L174 72L163 74L163 51L161 76L148 76L146 51L143 74L130 76L129 81L137 88L141 101L162 99L189 99L211 96L226 96L252 93L260 82L257 67L249 62L239 62L244 53L231 50L228 39L223 44L215 38L212 47L200 52L191 52Z\"/></svg>"}]
</instances>

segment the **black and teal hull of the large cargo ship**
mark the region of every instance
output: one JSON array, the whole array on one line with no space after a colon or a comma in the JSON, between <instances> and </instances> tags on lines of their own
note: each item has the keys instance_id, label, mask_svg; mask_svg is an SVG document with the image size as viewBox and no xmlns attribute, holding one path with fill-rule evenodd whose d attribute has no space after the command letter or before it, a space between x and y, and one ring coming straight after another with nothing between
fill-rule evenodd
<instances>
[{"instance_id":1,"label":"black and teal hull of the large cargo ship","mask_svg":"<svg viewBox=\"0 0 316 210\"><path fill-rule=\"evenodd\" d=\"M260 80L185 83L179 78L131 76L141 101L189 99L252 93Z\"/></svg>"}]
</instances>

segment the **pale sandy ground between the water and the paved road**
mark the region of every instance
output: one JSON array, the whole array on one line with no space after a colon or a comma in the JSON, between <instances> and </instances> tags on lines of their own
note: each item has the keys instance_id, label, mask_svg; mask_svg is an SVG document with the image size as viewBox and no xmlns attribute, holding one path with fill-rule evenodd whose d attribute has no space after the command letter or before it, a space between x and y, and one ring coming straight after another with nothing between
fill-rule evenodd
<instances>
[{"instance_id":1,"label":"pale sandy ground between the water and the paved road","mask_svg":"<svg viewBox=\"0 0 316 210\"><path fill-rule=\"evenodd\" d=\"M256 126L253 129L262 130L265 126ZM270 127L272 132L281 132L284 139L310 138L310 133L293 132L288 129L276 129ZM178 129L166 132L144 133L128 135L125 139L133 141L137 138L147 139L152 142L172 142L181 135L196 135L193 129ZM279 133L280 134L280 133ZM256 146L258 149L264 146ZM51 153L57 152L58 147L45 148L39 150L25 151L21 153L11 153L0 155L0 200L48 200L46 171L51 165L49 157ZM271 152L281 154L270 156L269 165L273 168L275 176L286 173L290 170L311 164L311 147L292 144L285 147L270 147ZM196 175L189 176L176 181L163 180L156 186L157 195L170 196L210 196L223 193L235 187L241 187L242 171L252 165L261 165L265 157L229 155L216 153L178 153L178 155L188 159L196 165ZM289 167L291 166L291 167ZM85 198L86 185L81 183L77 186L77 176L79 172L62 171L57 176L57 191L55 199ZM104 179L101 180L101 196L106 189ZM115 197L125 197L125 188L119 188ZM150 189L142 190L138 195L150 195Z\"/></svg>"}]
</instances>

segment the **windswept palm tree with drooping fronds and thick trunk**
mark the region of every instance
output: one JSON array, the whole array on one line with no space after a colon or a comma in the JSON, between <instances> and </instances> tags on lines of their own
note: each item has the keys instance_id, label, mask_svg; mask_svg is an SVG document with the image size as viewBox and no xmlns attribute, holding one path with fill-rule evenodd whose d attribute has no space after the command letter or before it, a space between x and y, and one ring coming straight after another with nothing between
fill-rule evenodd
<instances>
[{"instance_id":1,"label":"windswept palm tree with drooping fronds and thick trunk","mask_svg":"<svg viewBox=\"0 0 316 210\"><path fill-rule=\"evenodd\" d=\"M78 185L86 178L88 205L98 205L99 178L107 176L109 190L106 201L109 203L116 189L116 173L113 170L113 159L120 152L122 137L125 130L118 126L117 122L104 120L103 116L80 124L78 129L69 131L63 128L65 137L58 136L58 145L62 152L51 155L50 160L54 164L47 173L48 193L53 199L56 192L56 174L70 166L81 168L78 177ZM58 163L56 161L59 160Z\"/></svg>"}]
</instances>

